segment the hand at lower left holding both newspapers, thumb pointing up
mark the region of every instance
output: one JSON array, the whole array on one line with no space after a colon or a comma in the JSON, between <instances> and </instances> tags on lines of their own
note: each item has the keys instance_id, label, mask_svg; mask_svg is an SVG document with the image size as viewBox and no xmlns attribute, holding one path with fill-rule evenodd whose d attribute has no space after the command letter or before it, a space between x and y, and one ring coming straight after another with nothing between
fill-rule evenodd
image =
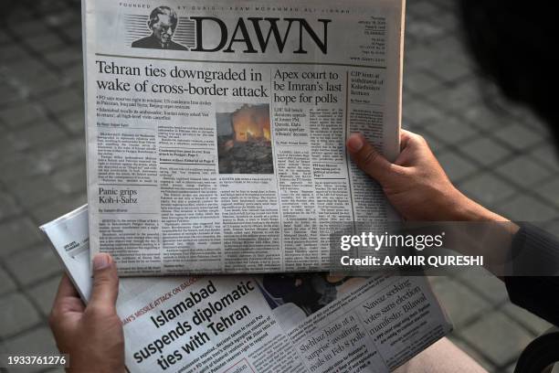
<instances>
[{"instance_id":1,"label":"hand at lower left holding both newspapers, thumb pointing up","mask_svg":"<svg viewBox=\"0 0 559 373\"><path fill-rule=\"evenodd\" d=\"M49 323L58 349L69 354L69 372L124 371L124 335L116 313L119 278L108 254L93 259L93 289L88 306L65 274Z\"/></svg>"}]
</instances>

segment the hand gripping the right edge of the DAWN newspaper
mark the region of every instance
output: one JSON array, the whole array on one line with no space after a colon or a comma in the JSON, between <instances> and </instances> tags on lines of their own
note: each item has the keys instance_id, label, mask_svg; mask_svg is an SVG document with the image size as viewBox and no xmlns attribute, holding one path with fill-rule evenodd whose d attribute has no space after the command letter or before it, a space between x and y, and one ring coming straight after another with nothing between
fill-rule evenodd
<instances>
[{"instance_id":1,"label":"hand gripping the right edge of the DAWN newspaper","mask_svg":"<svg viewBox=\"0 0 559 373\"><path fill-rule=\"evenodd\" d=\"M506 221L460 193L427 142L416 133L402 130L401 153L394 164L361 133L350 136L347 149L353 161L383 187L392 206L406 220Z\"/></svg>"}]
</instances>

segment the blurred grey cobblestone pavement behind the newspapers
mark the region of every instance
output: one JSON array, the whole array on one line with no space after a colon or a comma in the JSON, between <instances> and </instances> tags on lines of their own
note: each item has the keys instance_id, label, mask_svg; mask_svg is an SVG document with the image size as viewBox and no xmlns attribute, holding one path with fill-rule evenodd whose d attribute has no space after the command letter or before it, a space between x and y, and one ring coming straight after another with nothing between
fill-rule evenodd
<instances>
[{"instance_id":1,"label":"blurred grey cobblestone pavement behind the newspapers","mask_svg":"<svg viewBox=\"0 0 559 373\"><path fill-rule=\"evenodd\" d=\"M559 162L543 123L480 80L449 0L410 0L405 126L424 134L470 197L559 232ZM86 202L79 1L0 5L0 353L56 350L47 314L60 265L37 226ZM549 325L484 273L433 278L450 336L512 372Z\"/></svg>"}]
</instances>

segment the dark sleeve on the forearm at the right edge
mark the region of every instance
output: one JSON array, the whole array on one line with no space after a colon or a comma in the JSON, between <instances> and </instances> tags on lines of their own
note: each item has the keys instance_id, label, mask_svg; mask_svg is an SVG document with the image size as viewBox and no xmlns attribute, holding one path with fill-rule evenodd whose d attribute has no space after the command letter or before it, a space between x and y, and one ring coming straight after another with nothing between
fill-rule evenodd
<instances>
[{"instance_id":1,"label":"dark sleeve on the forearm at the right edge","mask_svg":"<svg viewBox=\"0 0 559 373\"><path fill-rule=\"evenodd\" d=\"M559 325L559 240L524 224L514 237L511 254L512 275L505 277L511 302Z\"/></svg>"}]
</instances>

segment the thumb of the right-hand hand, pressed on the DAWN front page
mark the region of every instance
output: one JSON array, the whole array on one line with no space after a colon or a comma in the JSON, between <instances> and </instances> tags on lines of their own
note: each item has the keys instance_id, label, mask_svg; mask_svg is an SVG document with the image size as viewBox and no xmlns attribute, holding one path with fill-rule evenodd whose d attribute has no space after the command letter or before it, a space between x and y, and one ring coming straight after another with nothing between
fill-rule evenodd
<instances>
[{"instance_id":1,"label":"thumb of the right-hand hand, pressed on the DAWN front page","mask_svg":"<svg viewBox=\"0 0 559 373\"><path fill-rule=\"evenodd\" d=\"M397 167L388 162L372 144L369 144L362 133L351 134L347 140L347 150L355 164L381 185L386 183L388 177L392 176L395 171L394 167Z\"/></svg>"}]
</instances>

